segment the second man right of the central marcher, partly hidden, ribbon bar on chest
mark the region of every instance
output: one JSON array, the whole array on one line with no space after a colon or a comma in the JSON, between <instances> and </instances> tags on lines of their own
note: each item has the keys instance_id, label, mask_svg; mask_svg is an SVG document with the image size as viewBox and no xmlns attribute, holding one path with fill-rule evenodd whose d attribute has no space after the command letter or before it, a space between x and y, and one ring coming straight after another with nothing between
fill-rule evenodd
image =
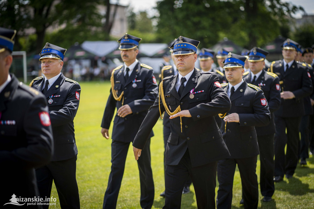
<instances>
[{"instance_id":1,"label":"second man right of the central marcher, partly hidden, ribbon bar on chest","mask_svg":"<svg viewBox=\"0 0 314 209\"><path fill-rule=\"evenodd\" d=\"M276 132L274 111L280 106L280 84L275 73L264 70L265 58L268 52L254 47L248 54L250 71L243 73L246 83L251 83L263 90L271 114L271 121L267 126L255 126L260 154L260 188L263 201L272 200L275 191L274 176L274 135ZM243 203L242 203L243 204Z\"/></svg>"}]
</instances>

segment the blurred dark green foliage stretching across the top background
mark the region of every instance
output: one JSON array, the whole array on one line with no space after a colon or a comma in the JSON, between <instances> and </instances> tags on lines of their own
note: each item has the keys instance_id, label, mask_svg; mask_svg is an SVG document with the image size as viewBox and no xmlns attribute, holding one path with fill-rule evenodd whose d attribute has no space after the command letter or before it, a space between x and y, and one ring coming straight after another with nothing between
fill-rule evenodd
<instances>
[{"instance_id":1,"label":"blurred dark green foliage stretching across the top background","mask_svg":"<svg viewBox=\"0 0 314 209\"><path fill-rule=\"evenodd\" d=\"M109 0L0 0L1 25L17 29L15 51L40 51L45 42L69 48L84 40L117 40L109 35L113 19L98 13L97 5ZM314 43L312 25L290 31L292 15L304 9L282 0L161 0L156 10L152 17L129 8L126 32L142 37L141 43L169 43L182 35L207 48L224 37L247 49L279 35L304 47ZM47 32L49 26L61 27Z\"/></svg>"}]
</instances>

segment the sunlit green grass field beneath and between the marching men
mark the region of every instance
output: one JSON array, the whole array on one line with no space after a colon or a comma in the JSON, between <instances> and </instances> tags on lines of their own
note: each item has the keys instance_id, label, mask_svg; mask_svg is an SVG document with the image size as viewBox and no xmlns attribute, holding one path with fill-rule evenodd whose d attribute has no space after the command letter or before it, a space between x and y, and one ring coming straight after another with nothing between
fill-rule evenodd
<instances>
[{"instance_id":1,"label":"sunlit green grass field beneath and between the marching men","mask_svg":"<svg viewBox=\"0 0 314 209\"><path fill-rule=\"evenodd\" d=\"M111 139L107 140L102 137L100 124L109 95L110 83L108 81L81 82L80 85L82 88L81 101L74 119L75 138L78 147L76 179L80 203L81 208L102 208L111 168ZM110 134L111 131L112 123ZM162 208L165 198L159 196L164 190L164 142L161 120L154 126L154 133L155 136L151 139L150 146L155 185L153 208ZM258 160L258 179L259 166ZM275 183L275 188L274 200L271 202L264 203L261 201L263 197L260 194L259 208L314 208L314 158L310 156L308 167L298 165L293 178ZM197 208L193 186L190 189L191 193L184 195L184 198L182 198L181 208ZM216 192L217 190L218 182ZM54 185L51 196L58 196ZM138 166L130 144L117 208L141 208L139 199ZM237 169L233 185L232 208L243 208L239 205L240 200L241 179ZM51 208L60 208L59 202L57 202L57 206L51 206Z\"/></svg>"}]
</instances>

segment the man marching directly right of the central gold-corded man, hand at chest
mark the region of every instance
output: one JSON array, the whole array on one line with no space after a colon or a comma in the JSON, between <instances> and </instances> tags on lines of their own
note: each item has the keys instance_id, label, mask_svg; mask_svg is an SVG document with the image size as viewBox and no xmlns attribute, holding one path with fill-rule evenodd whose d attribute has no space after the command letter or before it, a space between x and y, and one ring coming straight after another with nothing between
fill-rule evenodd
<instances>
[{"instance_id":1,"label":"man marching directly right of the central gold-corded man, hand at chest","mask_svg":"<svg viewBox=\"0 0 314 209\"><path fill-rule=\"evenodd\" d=\"M245 60L244 56L229 53L224 64L229 83L222 87L230 97L231 109L220 115L225 124L220 130L230 157L218 161L217 208L231 208L236 165L241 176L244 208L257 208L258 205L256 164L259 150L254 126L267 125L270 112L263 91L242 79Z\"/></svg>"}]
</instances>

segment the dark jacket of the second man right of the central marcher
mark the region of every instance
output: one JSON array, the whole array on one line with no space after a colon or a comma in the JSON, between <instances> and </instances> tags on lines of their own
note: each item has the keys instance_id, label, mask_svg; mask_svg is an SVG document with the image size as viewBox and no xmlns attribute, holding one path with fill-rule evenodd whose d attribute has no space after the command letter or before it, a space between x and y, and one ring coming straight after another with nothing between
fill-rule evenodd
<instances>
[{"instance_id":1,"label":"dark jacket of the second man right of the central marcher","mask_svg":"<svg viewBox=\"0 0 314 209\"><path fill-rule=\"evenodd\" d=\"M262 71L261 75L252 84L263 90L271 114L271 121L267 126L255 127L257 136L274 134L276 132L274 111L278 110L280 106L280 84L278 76L272 72ZM243 79L246 83L251 83L251 73L245 72Z\"/></svg>"}]
</instances>

